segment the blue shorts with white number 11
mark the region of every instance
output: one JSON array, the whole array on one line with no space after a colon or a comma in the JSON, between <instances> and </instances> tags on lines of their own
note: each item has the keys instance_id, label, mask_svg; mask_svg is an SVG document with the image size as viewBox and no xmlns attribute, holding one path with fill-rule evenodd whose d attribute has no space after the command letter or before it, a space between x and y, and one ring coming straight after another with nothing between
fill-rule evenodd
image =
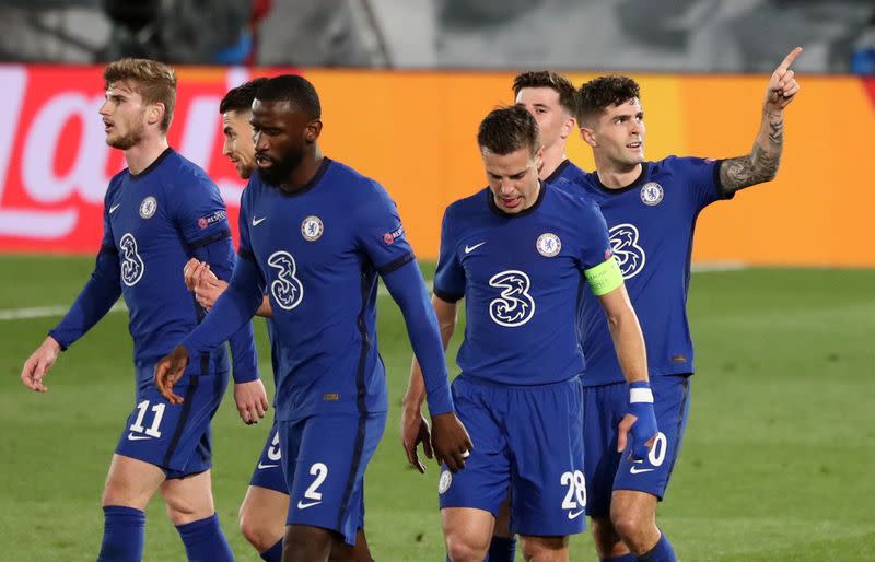
<instances>
[{"instance_id":1,"label":"blue shorts with white number 11","mask_svg":"<svg viewBox=\"0 0 875 562\"><path fill-rule=\"evenodd\" d=\"M137 365L137 403L128 415L116 454L136 458L164 470L168 479L185 478L212 466L210 422L228 387L228 372L186 374L174 386L184 397L171 405L158 391L154 363Z\"/></svg>"}]
</instances>

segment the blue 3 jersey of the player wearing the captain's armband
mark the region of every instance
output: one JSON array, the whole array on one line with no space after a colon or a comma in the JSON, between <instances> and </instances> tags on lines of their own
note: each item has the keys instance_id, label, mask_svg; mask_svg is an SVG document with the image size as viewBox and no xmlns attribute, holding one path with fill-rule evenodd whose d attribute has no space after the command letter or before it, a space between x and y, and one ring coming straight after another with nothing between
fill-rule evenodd
<instances>
[{"instance_id":1,"label":"blue 3 jersey of the player wearing the captain's armband","mask_svg":"<svg viewBox=\"0 0 875 562\"><path fill-rule=\"evenodd\" d=\"M541 385L580 374L575 318L583 272L609 257L596 204L549 184L518 214L498 209L489 189L451 204L434 294L447 302L465 297L462 375Z\"/></svg>"}]
</instances>

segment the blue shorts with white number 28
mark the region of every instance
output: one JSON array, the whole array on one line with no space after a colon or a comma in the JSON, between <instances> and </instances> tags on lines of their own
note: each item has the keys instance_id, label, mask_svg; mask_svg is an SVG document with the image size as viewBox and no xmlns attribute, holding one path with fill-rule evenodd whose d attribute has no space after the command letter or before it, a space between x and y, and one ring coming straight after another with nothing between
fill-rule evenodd
<instances>
[{"instance_id":1,"label":"blue shorts with white number 28","mask_svg":"<svg viewBox=\"0 0 875 562\"><path fill-rule=\"evenodd\" d=\"M472 507L498 516L510 491L513 532L582 532L586 485L580 379L509 386L462 376L453 382L453 398L474 449L455 475L442 467L441 508Z\"/></svg>"}]
</instances>

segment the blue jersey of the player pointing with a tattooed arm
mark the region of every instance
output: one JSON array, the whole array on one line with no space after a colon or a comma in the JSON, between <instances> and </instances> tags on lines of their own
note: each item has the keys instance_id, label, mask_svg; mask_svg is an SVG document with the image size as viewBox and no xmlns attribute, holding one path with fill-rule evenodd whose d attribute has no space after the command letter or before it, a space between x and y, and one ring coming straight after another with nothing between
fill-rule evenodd
<instances>
[{"instance_id":1,"label":"blue jersey of the player pointing with a tattooed arm","mask_svg":"<svg viewBox=\"0 0 875 562\"><path fill-rule=\"evenodd\" d=\"M626 280L648 348L650 376L693 372L687 291L696 219L723 199L720 161L669 156L643 164L641 176L608 189L593 172L563 187L594 199L607 221L610 246ZM625 380L605 313L590 295L580 330L586 353L584 385Z\"/></svg>"}]
</instances>

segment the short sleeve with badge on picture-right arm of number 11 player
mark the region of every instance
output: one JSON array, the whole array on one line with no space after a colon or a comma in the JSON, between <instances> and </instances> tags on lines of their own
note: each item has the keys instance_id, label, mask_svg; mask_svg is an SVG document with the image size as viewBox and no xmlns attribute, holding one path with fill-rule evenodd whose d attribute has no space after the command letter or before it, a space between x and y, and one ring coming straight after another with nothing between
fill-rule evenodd
<instances>
[{"instance_id":1,"label":"short sleeve with badge on picture-right arm of number 11 player","mask_svg":"<svg viewBox=\"0 0 875 562\"><path fill-rule=\"evenodd\" d=\"M182 177L189 182L173 186L174 219L189 248L231 236L225 203L215 184L200 174Z\"/></svg>"}]
</instances>

